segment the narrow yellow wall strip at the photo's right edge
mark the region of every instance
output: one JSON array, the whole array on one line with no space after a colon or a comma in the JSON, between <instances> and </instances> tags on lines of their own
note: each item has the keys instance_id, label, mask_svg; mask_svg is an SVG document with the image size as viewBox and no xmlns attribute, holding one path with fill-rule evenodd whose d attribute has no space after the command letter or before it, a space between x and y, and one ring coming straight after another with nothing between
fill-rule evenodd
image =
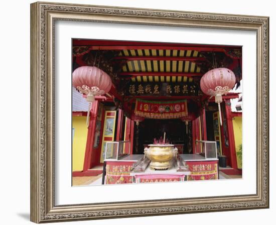
<instances>
[{"instance_id":1,"label":"narrow yellow wall strip at the photo's right edge","mask_svg":"<svg viewBox=\"0 0 276 225\"><path fill-rule=\"evenodd\" d=\"M233 129L236 147L236 156L238 168L242 168L242 151L240 151L240 145L242 144L242 118L241 116L235 116L233 118Z\"/></svg>"}]
</instances>

